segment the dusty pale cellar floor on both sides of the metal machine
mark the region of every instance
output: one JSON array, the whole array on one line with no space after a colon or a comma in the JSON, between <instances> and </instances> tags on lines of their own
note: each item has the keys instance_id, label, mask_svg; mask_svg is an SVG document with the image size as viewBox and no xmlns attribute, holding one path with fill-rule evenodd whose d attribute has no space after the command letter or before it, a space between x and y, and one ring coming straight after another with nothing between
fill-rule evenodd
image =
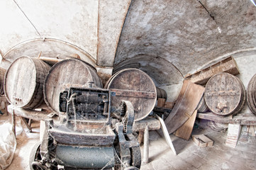
<instances>
[{"instance_id":1,"label":"dusty pale cellar floor on both sides of the metal machine","mask_svg":"<svg viewBox=\"0 0 256 170\"><path fill-rule=\"evenodd\" d=\"M1 115L0 123L11 122L9 115ZM17 119L17 124L21 121ZM17 135L17 149L12 164L7 170L29 169L28 159L30 149L39 140L39 123L33 122L33 132L26 132L24 128L21 135ZM21 127L20 126L20 127ZM213 147L197 147L193 140L182 140L171 135L177 156L169 149L161 137L161 131L150 132L150 163L144 164L141 169L256 169L256 139L249 137L246 143L238 142L235 149L225 145L226 133L216 132L210 128L193 130L193 134L207 135L214 141ZM143 147L141 148L143 150Z\"/></svg>"}]
</instances>

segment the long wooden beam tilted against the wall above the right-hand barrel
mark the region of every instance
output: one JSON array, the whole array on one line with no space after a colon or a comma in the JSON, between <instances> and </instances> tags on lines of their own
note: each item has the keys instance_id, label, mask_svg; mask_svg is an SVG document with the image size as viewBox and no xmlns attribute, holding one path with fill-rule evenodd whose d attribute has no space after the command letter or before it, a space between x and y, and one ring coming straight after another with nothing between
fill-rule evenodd
<instances>
[{"instance_id":1,"label":"long wooden beam tilted against the wall above the right-hand barrel","mask_svg":"<svg viewBox=\"0 0 256 170\"><path fill-rule=\"evenodd\" d=\"M201 69L194 74L188 75L186 79L195 84L204 85L207 83L208 79L220 72L227 72L233 75L240 74L234 58L230 56L221 62L217 62L216 64L207 67L206 69Z\"/></svg>"}]
</instances>

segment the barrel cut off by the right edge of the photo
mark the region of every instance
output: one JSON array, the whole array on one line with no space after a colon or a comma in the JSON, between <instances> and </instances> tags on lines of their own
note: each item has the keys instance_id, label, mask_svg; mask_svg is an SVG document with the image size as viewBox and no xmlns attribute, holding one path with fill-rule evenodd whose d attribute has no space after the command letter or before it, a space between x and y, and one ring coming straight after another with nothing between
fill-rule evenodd
<instances>
[{"instance_id":1,"label":"barrel cut off by the right edge of the photo","mask_svg":"<svg viewBox=\"0 0 256 170\"><path fill-rule=\"evenodd\" d=\"M256 74L250 79L247 86L247 105L250 111L256 115Z\"/></svg>"}]
</instances>

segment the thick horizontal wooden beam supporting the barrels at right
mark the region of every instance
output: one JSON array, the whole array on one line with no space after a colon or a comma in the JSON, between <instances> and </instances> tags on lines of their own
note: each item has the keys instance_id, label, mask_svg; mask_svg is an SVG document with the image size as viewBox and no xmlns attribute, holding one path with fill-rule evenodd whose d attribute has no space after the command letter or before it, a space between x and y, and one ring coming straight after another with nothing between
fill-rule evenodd
<instances>
[{"instance_id":1,"label":"thick horizontal wooden beam supporting the barrels at right","mask_svg":"<svg viewBox=\"0 0 256 170\"><path fill-rule=\"evenodd\" d=\"M233 118L228 118L220 115L215 115L213 113L198 113L197 118L205 119L205 120L213 120L218 123L233 123L240 125L256 125L256 116L253 114L245 114L245 115L235 115Z\"/></svg>"}]
</instances>

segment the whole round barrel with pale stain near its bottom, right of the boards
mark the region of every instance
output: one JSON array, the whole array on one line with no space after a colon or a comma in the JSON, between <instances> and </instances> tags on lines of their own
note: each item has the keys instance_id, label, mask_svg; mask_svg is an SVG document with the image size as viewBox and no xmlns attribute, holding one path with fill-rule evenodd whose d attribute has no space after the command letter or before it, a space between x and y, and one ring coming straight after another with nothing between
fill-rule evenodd
<instances>
[{"instance_id":1,"label":"whole round barrel with pale stain near its bottom, right of the boards","mask_svg":"<svg viewBox=\"0 0 256 170\"><path fill-rule=\"evenodd\" d=\"M245 87L238 77L228 73L219 73L208 80L204 99L213 113L235 115L245 103Z\"/></svg>"}]
</instances>

